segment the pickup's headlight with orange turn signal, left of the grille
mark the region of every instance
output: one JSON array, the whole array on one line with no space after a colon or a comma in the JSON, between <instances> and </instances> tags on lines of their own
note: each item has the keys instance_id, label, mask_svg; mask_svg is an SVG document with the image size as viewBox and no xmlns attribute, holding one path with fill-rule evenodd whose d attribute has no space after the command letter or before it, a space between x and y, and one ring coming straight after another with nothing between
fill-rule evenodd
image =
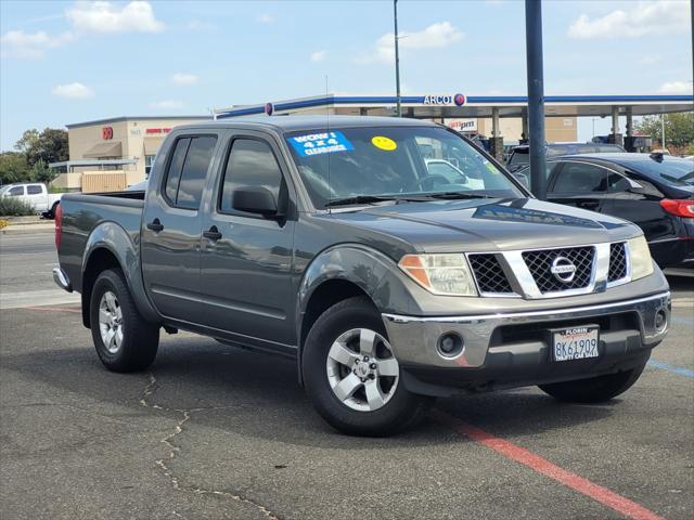
<instances>
[{"instance_id":1,"label":"pickup's headlight with orange turn signal, left of the grille","mask_svg":"<svg viewBox=\"0 0 694 520\"><path fill-rule=\"evenodd\" d=\"M406 255L398 265L435 295L477 296L464 255Z\"/></svg>"}]
</instances>

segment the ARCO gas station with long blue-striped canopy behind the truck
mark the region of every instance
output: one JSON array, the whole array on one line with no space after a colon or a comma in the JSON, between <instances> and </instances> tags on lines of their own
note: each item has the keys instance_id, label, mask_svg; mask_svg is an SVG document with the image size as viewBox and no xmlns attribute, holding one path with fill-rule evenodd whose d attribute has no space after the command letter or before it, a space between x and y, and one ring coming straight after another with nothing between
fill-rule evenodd
<instances>
[{"instance_id":1,"label":"ARCO gas station with long blue-striped canopy behind the truck","mask_svg":"<svg viewBox=\"0 0 694 520\"><path fill-rule=\"evenodd\" d=\"M323 94L312 98L232 106L215 112L216 119L258 114L340 114L394 116L400 106L404 117L429 119L465 133L490 138L490 152L499 159L503 145L525 140L528 99L525 95L465 95L429 93L423 95ZM611 117L609 142L622 143L619 116L626 116L627 141L633 136L633 116L690 112L694 95L547 95L544 96L545 139L548 142L577 141L578 117Z\"/></svg>"}]
</instances>

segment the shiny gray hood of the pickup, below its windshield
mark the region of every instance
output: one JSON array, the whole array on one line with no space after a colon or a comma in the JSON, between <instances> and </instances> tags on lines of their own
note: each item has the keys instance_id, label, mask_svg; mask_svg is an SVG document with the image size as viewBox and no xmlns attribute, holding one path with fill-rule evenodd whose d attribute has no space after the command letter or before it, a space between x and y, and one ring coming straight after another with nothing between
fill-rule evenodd
<instances>
[{"instance_id":1,"label":"shiny gray hood of the pickup, below its windshield","mask_svg":"<svg viewBox=\"0 0 694 520\"><path fill-rule=\"evenodd\" d=\"M402 203L333 212L329 218L400 238L423 252L575 246L641 233L620 219L534 198Z\"/></svg>"}]
</instances>

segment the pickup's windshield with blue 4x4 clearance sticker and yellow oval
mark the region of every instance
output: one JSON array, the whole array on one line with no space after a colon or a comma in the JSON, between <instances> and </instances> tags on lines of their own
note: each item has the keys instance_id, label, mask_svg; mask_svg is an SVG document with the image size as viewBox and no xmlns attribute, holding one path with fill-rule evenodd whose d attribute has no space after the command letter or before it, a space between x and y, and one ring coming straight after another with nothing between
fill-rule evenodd
<instances>
[{"instance_id":1,"label":"pickup's windshield with blue 4x4 clearance sticker and yellow oval","mask_svg":"<svg viewBox=\"0 0 694 520\"><path fill-rule=\"evenodd\" d=\"M339 199L524 197L479 151L437 127L304 130L286 135L317 208Z\"/></svg>"}]
</instances>

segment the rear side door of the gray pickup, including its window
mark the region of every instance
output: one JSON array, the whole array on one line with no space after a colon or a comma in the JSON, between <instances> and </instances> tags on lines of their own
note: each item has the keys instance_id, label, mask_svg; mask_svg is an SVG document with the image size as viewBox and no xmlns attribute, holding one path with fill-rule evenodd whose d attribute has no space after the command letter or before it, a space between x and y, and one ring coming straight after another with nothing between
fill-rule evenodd
<instances>
[{"instance_id":1,"label":"rear side door of the gray pickup, including its window","mask_svg":"<svg viewBox=\"0 0 694 520\"><path fill-rule=\"evenodd\" d=\"M166 317L201 321L202 200L219 141L219 133L207 130L174 138L158 185L147 192L142 273L154 307Z\"/></svg>"}]
</instances>

